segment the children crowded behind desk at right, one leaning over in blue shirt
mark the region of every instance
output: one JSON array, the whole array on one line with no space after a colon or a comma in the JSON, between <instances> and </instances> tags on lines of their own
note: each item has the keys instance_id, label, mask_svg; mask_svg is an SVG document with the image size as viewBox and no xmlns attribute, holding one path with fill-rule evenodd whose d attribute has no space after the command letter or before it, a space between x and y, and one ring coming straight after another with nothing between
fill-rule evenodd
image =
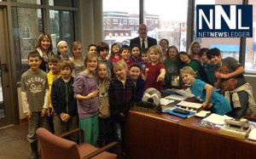
<instances>
[{"instance_id":1,"label":"children crowded behind desk at right, one leaning over in blue shirt","mask_svg":"<svg viewBox=\"0 0 256 159\"><path fill-rule=\"evenodd\" d=\"M252 88L243 76L243 66L236 59L222 59L218 48L201 48L198 42L190 44L189 54L178 53L175 46L167 48L166 53L166 84L172 80L170 77L180 74L195 98L212 112L241 118L249 109L253 116L256 115ZM212 91L213 87L220 89L222 94Z\"/></svg>"}]
</instances>

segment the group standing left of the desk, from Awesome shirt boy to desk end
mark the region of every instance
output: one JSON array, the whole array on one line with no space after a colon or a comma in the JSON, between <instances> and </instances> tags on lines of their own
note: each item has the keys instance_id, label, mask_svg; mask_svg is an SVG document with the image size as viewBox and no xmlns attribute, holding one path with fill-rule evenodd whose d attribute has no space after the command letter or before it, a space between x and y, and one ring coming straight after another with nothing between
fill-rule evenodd
<instances>
[{"instance_id":1,"label":"group standing left of the desk, from Awesome shirt boy to desk end","mask_svg":"<svg viewBox=\"0 0 256 159\"><path fill-rule=\"evenodd\" d=\"M91 45L91 53L84 59L81 43L72 43L70 56L67 43L61 41L57 43L57 54L53 54L49 35L40 35L37 50L28 54L30 69L21 77L31 158L38 158L38 127L55 134L83 128L85 140L91 145L121 141L125 116L131 105L143 98L145 82L140 75L148 64L143 62L138 47L131 52L128 46L112 48L113 56L107 60L107 43ZM115 52L119 54L114 56ZM153 49L150 54L156 56L152 60L156 65L159 53L154 54ZM148 62L147 50L143 59ZM156 78L162 81L164 75ZM77 134L69 139L79 142Z\"/></svg>"}]
</instances>

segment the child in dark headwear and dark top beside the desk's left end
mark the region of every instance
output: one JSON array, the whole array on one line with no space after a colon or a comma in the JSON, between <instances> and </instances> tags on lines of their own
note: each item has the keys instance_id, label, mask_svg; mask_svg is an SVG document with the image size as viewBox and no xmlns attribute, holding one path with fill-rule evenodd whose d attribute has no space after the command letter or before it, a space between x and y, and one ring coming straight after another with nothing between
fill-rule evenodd
<instances>
[{"instance_id":1,"label":"child in dark headwear and dark top beside the desk's left end","mask_svg":"<svg viewBox=\"0 0 256 159\"><path fill-rule=\"evenodd\" d=\"M131 64L129 67L130 76L136 89L136 101L143 99L145 81L141 76L141 67L138 64Z\"/></svg>"}]
</instances>

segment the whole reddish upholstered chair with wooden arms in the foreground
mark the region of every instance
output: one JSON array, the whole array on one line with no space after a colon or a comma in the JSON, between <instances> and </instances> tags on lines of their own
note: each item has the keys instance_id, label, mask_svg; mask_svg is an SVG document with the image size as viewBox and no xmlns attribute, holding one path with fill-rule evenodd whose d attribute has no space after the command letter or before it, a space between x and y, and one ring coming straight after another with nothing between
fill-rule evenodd
<instances>
[{"instance_id":1,"label":"whole reddish upholstered chair with wooden arms in the foreground","mask_svg":"<svg viewBox=\"0 0 256 159\"><path fill-rule=\"evenodd\" d=\"M80 132L81 144L77 145L75 142L67 139L71 133ZM53 133L50 133L45 128L38 128L37 130L38 142L41 147L41 158L42 159L119 159L120 158L120 145L118 142L112 142L108 145L105 145L102 148L96 148L93 145L90 145L84 142L84 131L83 129L76 128L67 133L62 133L59 136L56 136ZM117 155L109 153L105 150L117 146Z\"/></svg>"}]
</instances>

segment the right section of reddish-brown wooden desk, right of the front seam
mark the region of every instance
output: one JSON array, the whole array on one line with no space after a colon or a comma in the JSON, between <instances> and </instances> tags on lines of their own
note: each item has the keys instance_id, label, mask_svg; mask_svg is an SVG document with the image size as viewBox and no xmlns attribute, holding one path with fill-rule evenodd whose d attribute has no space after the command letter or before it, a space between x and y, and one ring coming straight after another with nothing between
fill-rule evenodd
<instances>
[{"instance_id":1,"label":"right section of reddish-brown wooden desk, right of the front seam","mask_svg":"<svg viewBox=\"0 0 256 159\"><path fill-rule=\"evenodd\" d=\"M192 116L179 122L178 158L255 158L256 142L219 134L219 128L200 127L199 120Z\"/></svg>"}]
</instances>

